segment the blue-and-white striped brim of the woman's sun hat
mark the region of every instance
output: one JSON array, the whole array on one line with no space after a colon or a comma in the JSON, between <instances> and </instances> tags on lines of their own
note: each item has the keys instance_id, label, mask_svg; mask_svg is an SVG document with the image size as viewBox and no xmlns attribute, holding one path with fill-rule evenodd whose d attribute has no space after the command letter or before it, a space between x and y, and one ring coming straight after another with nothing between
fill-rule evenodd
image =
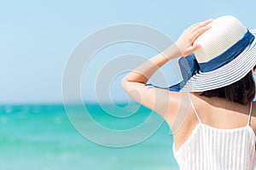
<instances>
[{"instance_id":1,"label":"blue-and-white striped brim of the woman's sun hat","mask_svg":"<svg viewBox=\"0 0 256 170\"><path fill-rule=\"evenodd\" d=\"M181 92L203 92L223 88L241 80L256 65L256 31L251 30L253 42L230 63L208 72L196 73L186 82Z\"/></svg>"}]
</instances>

